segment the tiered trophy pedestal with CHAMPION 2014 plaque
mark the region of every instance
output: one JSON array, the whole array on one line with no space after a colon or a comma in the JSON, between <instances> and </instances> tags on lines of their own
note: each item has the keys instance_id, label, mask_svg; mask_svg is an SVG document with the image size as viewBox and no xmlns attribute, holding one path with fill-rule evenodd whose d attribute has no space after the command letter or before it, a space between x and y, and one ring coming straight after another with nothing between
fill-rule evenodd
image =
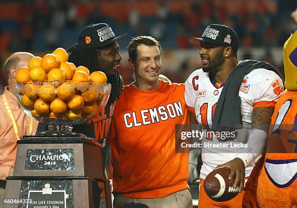
<instances>
[{"instance_id":1,"label":"tiered trophy pedestal with CHAMPION 2014 plaque","mask_svg":"<svg viewBox=\"0 0 297 208\"><path fill-rule=\"evenodd\" d=\"M17 145L3 208L93 208L99 200L99 192L94 195L98 183L104 187L106 207L112 208L100 144L75 136L24 136Z\"/></svg>"}]
</instances>

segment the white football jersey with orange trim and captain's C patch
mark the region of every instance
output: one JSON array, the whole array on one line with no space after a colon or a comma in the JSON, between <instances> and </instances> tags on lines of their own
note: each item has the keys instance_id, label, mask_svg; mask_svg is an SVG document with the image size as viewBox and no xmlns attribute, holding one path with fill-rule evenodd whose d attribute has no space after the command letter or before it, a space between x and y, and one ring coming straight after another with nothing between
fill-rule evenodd
<instances>
[{"instance_id":1,"label":"white football jersey with orange trim and captain's C patch","mask_svg":"<svg viewBox=\"0 0 297 208\"><path fill-rule=\"evenodd\" d=\"M208 73L202 69L194 71L186 80L185 101L187 106L195 109L198 123L205 129L211 129L214 111L218 98L222 92L223 85L217 87L214 80L210 80ZM240 86L239 96L241 98L241 113L243 128L236 130L236 137L232 144L247 143L248 132L252 121L253 108L274 107L276 101L283 91L281 78L273 71L267 69L254 69L247 74ZM230 115L232 116L232 115ZM204 146L204 143L220 144L216 137L202 138L202 161L200 178L205 177L219 165L235 158L240 147L222 148ZM246 168L246 177L249 176L254 164Z\"/></svg>"}]
</instances>

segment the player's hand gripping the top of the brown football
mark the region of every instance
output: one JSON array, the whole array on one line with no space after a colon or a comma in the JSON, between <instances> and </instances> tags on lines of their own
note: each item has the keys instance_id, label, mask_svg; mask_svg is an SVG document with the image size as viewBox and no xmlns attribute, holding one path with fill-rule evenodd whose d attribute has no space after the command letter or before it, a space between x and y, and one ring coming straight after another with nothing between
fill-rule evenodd
<instances>
[{"instance_id":1,"label":"player's hand gripping the top of the brown football","mask_svg":"<svg viewBox=\"0 0 297 208\"><path fill-rule=\"evenodd\" d=\"M237 186L239 186L239 191L241 192L245 184L246 166L244 162L240 158L235 158L229 162L216 166L214 170L219 168L224 168L224 167L230 168L231 173L229 175L229 180L232 180L233 178L235 178L233 188L236 188Z\"/></svg>"}]
</instances>

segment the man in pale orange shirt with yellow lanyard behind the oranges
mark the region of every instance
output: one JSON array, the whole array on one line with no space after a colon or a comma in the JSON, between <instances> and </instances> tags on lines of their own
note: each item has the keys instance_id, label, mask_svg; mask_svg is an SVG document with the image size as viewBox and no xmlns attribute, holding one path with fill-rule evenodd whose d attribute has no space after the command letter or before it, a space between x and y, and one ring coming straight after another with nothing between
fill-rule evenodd
<instances>
[{"instance_id":1,"label":"man in pale orange shirt with yellow lanyard behind the oranges","mask_svg":"<svg viewBox=\"0 0 297 208\"><path fill-rule=\"evenodd\" d=\"M32 57L31 53L17 52L12 54L4 64L8 86L0 96L0 207L4 197L5 178L12 176L14 172L16 141L24 135L35 134L38 124L18 105L14 89L17 69L28 66Z\"/></svg>"}]
</instances>

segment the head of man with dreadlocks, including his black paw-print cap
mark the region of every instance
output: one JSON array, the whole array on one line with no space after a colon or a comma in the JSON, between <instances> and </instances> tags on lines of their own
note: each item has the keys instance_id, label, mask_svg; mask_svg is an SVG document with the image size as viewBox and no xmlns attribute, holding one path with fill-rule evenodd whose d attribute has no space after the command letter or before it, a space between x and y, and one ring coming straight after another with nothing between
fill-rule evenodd
<instances>
[{"instance_id":1,"label":"head of man with dreadlocks, including his black paw-print cap","mask_svg":"<svg viewBox=\"0 0 297 208\"><path fill-rule=\"evenodd\" d=\"M67 49L70 52L69 62L76 66L87 67L90 73L103 71L107 75L108 82L112 84L109 103L113 103L119 97L123 87L122 78L118 73L118 66L122 57L119 54L116 39L126 34L116 37L109 25L105 23L90 24L82 29L77 43ZM96 139L99 138L96 137Z\"/></svg>"}]
</instances>

